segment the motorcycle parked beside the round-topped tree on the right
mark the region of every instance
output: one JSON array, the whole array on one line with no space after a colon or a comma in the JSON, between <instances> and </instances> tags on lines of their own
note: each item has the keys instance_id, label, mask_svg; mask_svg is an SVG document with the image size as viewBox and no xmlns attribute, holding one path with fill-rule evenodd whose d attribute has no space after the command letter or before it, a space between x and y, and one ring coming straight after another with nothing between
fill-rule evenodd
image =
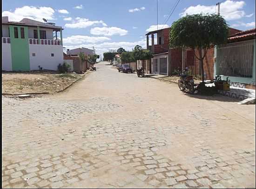
<instances>
[{"instance_id":1,"label":"motorcycle parked beside the round-topped tree on the right","mask_svg":"<svg viewBox=\"0 0 256 189\"><path fill-rule=\"evenodd\" d=\"M178 86L181 91L188 91L193 94L195 92L195 83L194 78L191 75L188 75L189 68L186 67L183 72L180 73L180 79Z\"/></svg>"}]
</instances>

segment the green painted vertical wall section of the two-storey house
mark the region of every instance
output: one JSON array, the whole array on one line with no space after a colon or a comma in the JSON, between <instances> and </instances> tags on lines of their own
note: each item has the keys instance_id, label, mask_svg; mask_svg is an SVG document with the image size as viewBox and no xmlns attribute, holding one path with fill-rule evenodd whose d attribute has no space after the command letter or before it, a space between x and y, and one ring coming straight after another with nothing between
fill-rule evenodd
<instances>
[{"instance_id":1,"label":"green painted vertical wall section of the two-storey house","mask_svg":"<svg viewBox=\"0 0 256 189\"><path fill-rule=\"evenodd\" d=\"M18 27L18 38L14 38L14 27ZM29 46L28 46L28 28L24 26L25 38L20 35L20 27L9 26L11 38L11 53L12 53L12 69L13 71L29 71Z\"/></svg>"}]
</instances>

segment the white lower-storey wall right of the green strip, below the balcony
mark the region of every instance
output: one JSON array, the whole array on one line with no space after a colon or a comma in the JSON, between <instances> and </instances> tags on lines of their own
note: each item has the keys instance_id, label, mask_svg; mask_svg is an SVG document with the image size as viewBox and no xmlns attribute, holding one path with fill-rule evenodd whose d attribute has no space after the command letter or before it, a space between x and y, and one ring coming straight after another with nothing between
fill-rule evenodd
<instances>
[{"instance_id":1,"label":"white lower-storey wall right of the green strip, below the balcony","mask_svg":"<svg viewBox=\"0 0 256 189\"><path fill-rule=\"evenodd\" d=\"M35 53L34 57L33 53ZM54 57L51 53L54 53ZM29 44L29 59L30 70L38 70L39 65L43 69L57 70L57 66L63 64L62 46Z\"/></svg>"}]
</instances>

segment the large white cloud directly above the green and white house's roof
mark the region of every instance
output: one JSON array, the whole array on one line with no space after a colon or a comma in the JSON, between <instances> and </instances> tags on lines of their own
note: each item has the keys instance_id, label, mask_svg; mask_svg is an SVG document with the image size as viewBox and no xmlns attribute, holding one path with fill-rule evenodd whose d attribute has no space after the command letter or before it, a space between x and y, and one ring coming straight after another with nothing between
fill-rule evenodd
<instances>
[{"instance_id":1,"label":"large white cloud directly above the green and white house's roof","mask_svg":"<svg viewBox=\"0 0 256 189\"><path fill-rule=\"evenodd\" d=\"M51 7L29 7L24 6L21 8L15 8L14 12L4 11L2 16L8 16L10 21L20 21L24 18L43 21L45 18L47 20L54 20L54 9Z\"/></svg>"}]
</instances>

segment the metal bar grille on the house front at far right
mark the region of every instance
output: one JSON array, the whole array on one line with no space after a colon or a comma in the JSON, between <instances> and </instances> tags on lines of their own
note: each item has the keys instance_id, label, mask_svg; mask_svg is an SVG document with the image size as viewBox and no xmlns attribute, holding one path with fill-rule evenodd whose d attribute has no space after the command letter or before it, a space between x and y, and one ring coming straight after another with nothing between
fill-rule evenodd
<instances>
[{"instance_id":1,"label":"metal bar grille on the house front at far right","mask_svg":"<svg viewBox=\"0 0 256 189\"><path fill-rule=\"evenodd\" d=\"M216 74L240 78L253 77L254 40L217 47Z\"/></svg>"}]
</instances>

